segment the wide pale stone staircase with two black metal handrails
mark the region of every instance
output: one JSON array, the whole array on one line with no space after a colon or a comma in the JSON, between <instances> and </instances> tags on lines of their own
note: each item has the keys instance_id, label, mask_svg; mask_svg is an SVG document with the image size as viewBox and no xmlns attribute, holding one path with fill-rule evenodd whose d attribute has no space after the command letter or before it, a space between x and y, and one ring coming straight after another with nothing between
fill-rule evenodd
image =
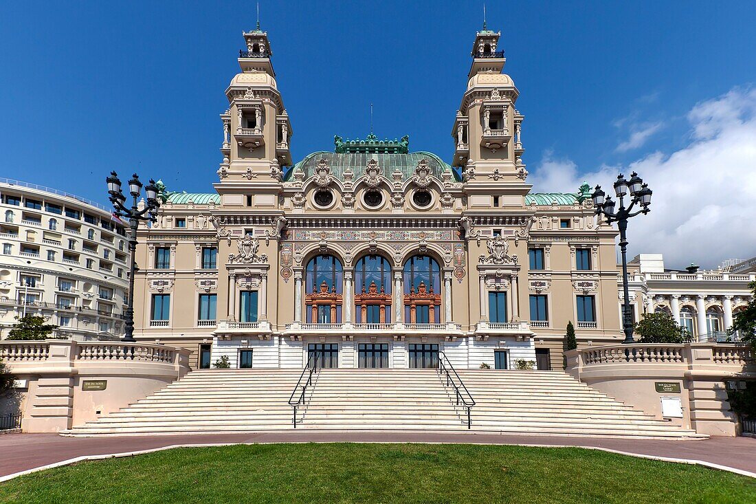
<instances>
[{"instance_id":1,"label":"wide pale stone staircase with two black metal handrails","mask_svg":"<svg viewBox=\"0 0 756 504\"><path fill-rule=\"evenodd\" d=\"M564 372L461 370L476 400L472 431L501 434L702 437L633 409ZM204 369L62 434L197 434L293 429L288 403L302 370ZM467 431L466 412L435 370L323 369L297 431Z\"/></svg>"}]
</instances>

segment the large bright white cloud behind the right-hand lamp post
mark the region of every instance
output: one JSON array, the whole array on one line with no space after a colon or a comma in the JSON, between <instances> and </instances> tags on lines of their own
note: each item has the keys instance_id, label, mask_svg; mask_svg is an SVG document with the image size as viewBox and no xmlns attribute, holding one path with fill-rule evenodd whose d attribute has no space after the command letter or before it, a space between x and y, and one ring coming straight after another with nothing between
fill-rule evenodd
<instances>
[{"instance_id":1,"label":"large bright white cloud behind the right-hand lamp post","mask_svg":"<svg viewBox=\"0 0 756 504\"><path fill-rule=\"evenodd\" d=\"M668 267L714 267L756 256L756 90L733 89L687 114L689 145L626 166L580 173L547 153L528 182L533 191L576 191L586 179L607 193L621 171L637 171L653 189L651 212L632 219L630 252L661 252Z\"/></svg>"}]
</instances>

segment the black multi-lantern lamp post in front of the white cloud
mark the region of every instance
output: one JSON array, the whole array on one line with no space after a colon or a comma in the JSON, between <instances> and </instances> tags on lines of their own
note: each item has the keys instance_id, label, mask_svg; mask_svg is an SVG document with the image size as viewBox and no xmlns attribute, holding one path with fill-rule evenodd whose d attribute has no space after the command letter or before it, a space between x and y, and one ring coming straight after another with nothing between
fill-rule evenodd
<instances>
[{"instance_id":1,"label":"black multi-lantern lamp post in front of the white cloud","mask_svg":"<svg viewBox=\"0 0 756 504\"><path fill-rule=\"evenodd\" d=\"M648 184L644 184L635 172L631 174L630 180L625 180L620 173L617 176L617 182L614 183L614 188L619 200L619 208L616 211L615 201L612 201L611 196L606 196L600 185L596 185L596 190L591 194L591 198L593 198L593 204L596 205L596 215L606 216L606 222L609 224L618 222L619 247L622 251L622 287L624 288L624 309L622 310L624 341L622 343L635 343L633 339L633 317L630 311L630 289L627 287L627 235L625 232L627 231L627 219L637 216L639 213L649 213L652 191ZM625 198L628 198L627 207L625 207ZM636 205L640 205L640 210L633 212Z\"/></svg>"}]
</instances>

